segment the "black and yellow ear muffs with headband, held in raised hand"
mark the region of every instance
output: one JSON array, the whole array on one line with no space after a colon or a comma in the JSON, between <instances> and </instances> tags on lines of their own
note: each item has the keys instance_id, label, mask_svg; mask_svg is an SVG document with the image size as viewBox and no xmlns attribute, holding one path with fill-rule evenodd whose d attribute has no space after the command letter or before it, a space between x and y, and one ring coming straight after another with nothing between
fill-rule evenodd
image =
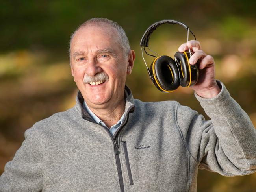
<instances>
[{"instance_id":1,"label":"black and yellow ear muffs with headband, held in raised hand","mask_svg":"<svg viewBox=\"0 0 256 192\"><path fill-rule=\"evenodd\" d=\"M152 62L150 69L148 68L148 65L143 57L143 49L147 55L156 57L154 55L148 54L145 48L148 48L150 36L156 30L156 28L158 28L159 26L165 23L172 24L172 25L178 24L183 28L185 28L187 31L187 41L189 40L189 32L194 36L195 40L196 40L196 37L186 24L176 20L167 19L167 20L158 21L152 24L151 26L149 26L141 38L140 45L141 45L142 58L147 67L150 79L160 91L172 92L173 90L177 89L179 85L183 87L190 87L191 85L195 85L195 83L197 83L199 72L198 72L197 64L195 65L189 64L188 55L190 54L188 54L188 52L183 52L183 53L177 52L175 54L174 62L173 62L173 59L168 56L157 57ZM153 52L152 50L150 51ZM155 52L153 53L156 54Z\"/></svg>"}]
</instances>

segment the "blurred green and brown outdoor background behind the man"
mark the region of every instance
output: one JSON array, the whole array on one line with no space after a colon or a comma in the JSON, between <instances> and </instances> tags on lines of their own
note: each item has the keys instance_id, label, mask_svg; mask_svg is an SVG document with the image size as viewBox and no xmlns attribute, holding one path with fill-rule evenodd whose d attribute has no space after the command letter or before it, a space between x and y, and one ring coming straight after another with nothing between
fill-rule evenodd
<instances>
[{"instance_id":1,"label":"blurred green and brown outdoor background behind the man","mask_svg":"<svg viewBox=\"0 0 256 192\"><path fill-rule=\"evenodd\" d=\"M0 7L0 174L20 147L26 129L74 105L78 90L70 73L69 37L93 17L114 20L126 31L137 53L127 79L135 98L177 100L205 115L191 89L158 91L141 57L139 42L152 23L173 19L187 24L202 49L215 58L217 79L256 126L256 1L2 0ZM181 26L162 25L153 33L150 48L173 57L186 42L186 34ZM146 57L148 65L152 59ZM222 177L199 170L197 191L252 192L255 181L256 174Z\"/></svg>"}]
</instances>

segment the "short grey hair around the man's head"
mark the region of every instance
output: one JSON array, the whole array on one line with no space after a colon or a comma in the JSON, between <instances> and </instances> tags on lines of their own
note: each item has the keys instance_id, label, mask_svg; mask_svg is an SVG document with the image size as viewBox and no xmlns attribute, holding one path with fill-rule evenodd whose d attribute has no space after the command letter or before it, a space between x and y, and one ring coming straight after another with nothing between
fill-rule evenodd
<instances>
[{"instance_id":1,"label":"short grey hair around the man's head","mask_svg":"<svg viewBox=\"0 0 256 192\"><path fill-rule=\"evenodd\" d=\"M72 40L74 38L74 36L76 35L76 32L81 29L81 28L86 28L88 26L100 26L102 28L106 28L109 27L112 30L114 30L117 34L117 41L120 44L120 47L122 49L123 52L123 56L124 58L127 58L130 54L130 44L129 44L129 40L125 34L124 29L117 24L116 22L109 20L107 18L91 18L87 21L85 21L83 24L81 24L76 31L74 31L74 33L72 33L71 37L70 37L70 46L69 46L69 57L71 58L71 44L72 44Z\"/></svg>"}]
</instances>

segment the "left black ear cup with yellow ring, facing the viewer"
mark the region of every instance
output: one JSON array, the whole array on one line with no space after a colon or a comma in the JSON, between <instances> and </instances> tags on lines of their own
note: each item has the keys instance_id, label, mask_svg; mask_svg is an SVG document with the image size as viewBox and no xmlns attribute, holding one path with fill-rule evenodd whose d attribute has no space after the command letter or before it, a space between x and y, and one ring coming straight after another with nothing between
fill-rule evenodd
<instances>
[{"instance_id":1,"label":"left black ear cup with yellow ring, facing the viewer","mask_svg":"<svg viewBox=\"0 0 256 192\"><path fill-rule=\"evenodd\" d=\"M153 83L162 92L172 92L180 85L179 70L169 56L157 57L150 66Z\"/></svg>"}]
</instances>

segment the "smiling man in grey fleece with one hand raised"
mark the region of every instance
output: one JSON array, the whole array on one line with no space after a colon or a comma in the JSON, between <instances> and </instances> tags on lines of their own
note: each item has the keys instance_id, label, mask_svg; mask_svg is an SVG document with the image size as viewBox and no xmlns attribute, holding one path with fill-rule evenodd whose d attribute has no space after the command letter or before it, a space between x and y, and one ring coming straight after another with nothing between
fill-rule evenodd
<instances>
[{"instance_id":1,"label":"smiling man in grey fleece with one hand raised","mask_svg":"<svg viewBox=\"0 0 256 192\"><path fill-rule=\"evenodd\" d=\"M221 175L256 170L256 130L215 80L214 60L198 41L192 88L210 121L175 101L141 102L125 86L134 66L123 29L94 18L70 41L76 105L37 122L0 177L0 191L196 191L198 168ZM139 83L139 82L138 82Z\"/></svg>"}]
</instances>

